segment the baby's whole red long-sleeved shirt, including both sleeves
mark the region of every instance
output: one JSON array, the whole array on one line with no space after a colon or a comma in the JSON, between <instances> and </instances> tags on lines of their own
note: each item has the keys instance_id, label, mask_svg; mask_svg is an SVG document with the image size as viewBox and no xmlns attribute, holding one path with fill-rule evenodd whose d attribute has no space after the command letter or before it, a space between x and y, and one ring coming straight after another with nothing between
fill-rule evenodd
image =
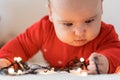
<instances>
[{"instance_id":1,"label":"baby's whole red long-sleeved shirt, including both sleeves","mask_svg":"<svg viewBox=\"0 0 120 80\"><path fill-rule=\"evenodd\" d=\"M114 27L101 22L101 31L97 38L84 46L74 47L61 42L54 31L48 16L30 26L24 33L8 42L1 50L0 57L13 61L14 57L22 57L27 61L38 50L51 66L65 67L75 57L85 58L93 52L105 55L110 64L109 73L113 73L120 65L120 41Z\"/></svg>"}]
</instances>

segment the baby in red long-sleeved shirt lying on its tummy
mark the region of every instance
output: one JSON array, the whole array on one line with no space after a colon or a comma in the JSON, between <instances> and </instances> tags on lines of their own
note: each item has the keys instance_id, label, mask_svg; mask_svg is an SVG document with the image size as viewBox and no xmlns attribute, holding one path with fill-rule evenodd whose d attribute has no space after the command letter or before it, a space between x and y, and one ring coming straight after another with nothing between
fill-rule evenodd
<instances>
[{"instance_id":1,"label":"baby in red long-sleeved shirt lying on its tummy","mask_svg":"<svg viewBox=\"0 0 120 80\"><path fill-rule=\"evenodd\" d=\"M50 66L64 68L74 58L89 60L89 74L114 73L120 65L120 41L113 25L101 21L102 0L49 0L48 15L0 50L0 67L42 51Z\"/></svg>"}]
</instances>

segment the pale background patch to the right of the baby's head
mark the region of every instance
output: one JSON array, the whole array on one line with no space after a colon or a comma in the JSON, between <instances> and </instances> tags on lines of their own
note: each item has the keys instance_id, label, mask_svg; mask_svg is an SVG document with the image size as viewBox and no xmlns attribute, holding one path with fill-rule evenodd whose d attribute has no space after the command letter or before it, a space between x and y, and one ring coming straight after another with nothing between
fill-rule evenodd
<instances>
[{"instance_id":1,"label":"pale background patch to the right of the baby's head","mask_svg":"<svg viewBox=\"0 0 120 80\"><path fill-rule=\"evenodd\" d=\"M104 0L103 20L115 26L120 35L120 0Z\"/></svg>"}]
</instances>

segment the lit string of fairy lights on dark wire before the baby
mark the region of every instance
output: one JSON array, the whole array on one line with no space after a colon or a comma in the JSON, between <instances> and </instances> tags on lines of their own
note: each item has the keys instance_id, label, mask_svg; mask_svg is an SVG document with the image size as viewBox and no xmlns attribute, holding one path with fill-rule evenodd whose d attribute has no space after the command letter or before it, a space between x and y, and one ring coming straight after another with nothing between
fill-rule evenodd
<instances>
[{"instance_id":1,"label":"lit string of fairy lights on dark wire before the baby","mask_svg":"<svg viewBox=\"0 0 120 80\"><path fill-rule=\"evenodd\" d=\"M96 71L100 74L98 65L97 65L97 58L94 59L96 65ZM73 66L73 64L75 64ZM13 66L16 65L17 68ZM39 73L39 71L42 71ZM22 61L22 58L15 57L14 62L11 63L9 66L3 67L0 69L1 75L26 75L26 74L52 74L56 72L67 72L73 73L81 76L87 76L87 64L84 58L77 58L71 60L65 68L56 68L56 67L49 67L49 66L41 66L39 64L28 65L27 63Z\"/></svg>"}]
</instances>

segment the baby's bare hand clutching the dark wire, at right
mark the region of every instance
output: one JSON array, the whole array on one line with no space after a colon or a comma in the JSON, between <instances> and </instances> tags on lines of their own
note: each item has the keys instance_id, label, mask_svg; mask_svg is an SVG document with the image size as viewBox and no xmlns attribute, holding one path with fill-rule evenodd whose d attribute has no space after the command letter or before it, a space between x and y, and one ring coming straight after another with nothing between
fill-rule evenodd
<instances>
[{"instance_id":1,"label":"baby's bare hand clutching the dark wire, at right","mask_svg":"<svg viewBox=\"0 0 120 80\"><path fill-rule=\"evenodd\" d=\"M106 74L109 69L109 63L104 55L92 53L89 57L89 65L87 68L88 74Z\"/></svg>"}]
</instances>

